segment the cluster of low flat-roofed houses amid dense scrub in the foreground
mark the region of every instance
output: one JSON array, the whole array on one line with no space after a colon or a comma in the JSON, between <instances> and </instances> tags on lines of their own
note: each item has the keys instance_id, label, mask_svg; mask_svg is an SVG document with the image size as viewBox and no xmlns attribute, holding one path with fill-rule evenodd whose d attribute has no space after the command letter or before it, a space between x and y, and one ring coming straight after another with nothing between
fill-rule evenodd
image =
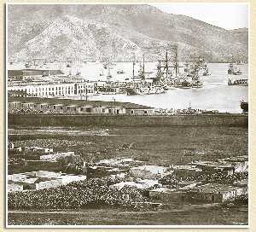
<instances>
[{"instance_id":1,"label":"cluster of low flat-roofed houses amid dense scrub in the foreground","mask_svg":"<svg viewBox=\"0 0 256 232\"><path fill-rule=\"evenodd\" d=\"M101 202L154 210L189 203L244 204L247 177L247 155L169 166L133 158L87 163L75 152L9 142L10 210L75 209ZM60 197L50 202L56 193Z\"/></svg>"}]
</instances>

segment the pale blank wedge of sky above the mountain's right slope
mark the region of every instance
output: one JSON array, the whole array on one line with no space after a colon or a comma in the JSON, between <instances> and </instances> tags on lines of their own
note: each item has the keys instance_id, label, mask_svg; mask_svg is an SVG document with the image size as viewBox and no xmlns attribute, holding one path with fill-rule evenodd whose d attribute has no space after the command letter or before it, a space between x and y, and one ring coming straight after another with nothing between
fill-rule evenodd
<instances>
[{"instance_id":1,"label":"pale blank wedge of sky above the mountain's right slope","mask_svg":"<svg viewBox=\"0 0 256 232\"><path fill-rule=\"evenodd\" d=\"M244 3L151 4L166 13L183 14L225 29L248 27L248 5Z\"/></svg>"}]
</instances>

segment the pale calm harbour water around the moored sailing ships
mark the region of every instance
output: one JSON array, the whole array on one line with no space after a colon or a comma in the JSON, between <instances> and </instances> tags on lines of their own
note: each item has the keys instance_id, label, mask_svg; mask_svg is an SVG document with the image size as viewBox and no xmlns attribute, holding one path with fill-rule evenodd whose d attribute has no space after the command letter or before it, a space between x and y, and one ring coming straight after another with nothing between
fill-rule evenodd
<instances>
[{"instance_id":1,"label":"pale calm harbour water around the moored sailing ships","mask_svg":"<svg viewBox=\"0 0 256 232\"><path fill-rule=\"evenodd\" d=\"M91 66L98 66L91 67ZM207 110L218 110L219 112L241 113L240 101L247 101L247 86L229 86L228 80L236 78L248 78L247 64L241 65L242 75L229 75L226 63L208 64L211 75L202 76L203 88L201 89L175 89L167 90L159 95L126 96L126 95L100 95L89 96L88 100L133 102L156 108L183 109L189 107ZM124 70L124 74L117 74L119 69ZM104 79L99 76L101 64L89 64L81 68L82 76L89 80ZM146 63L146 72L156 72L156 63ZM73 71L74 72L74 71ZM113 81L125 80L132 76L132 63L117 63L110 69ZM151 75L155 75L152 73ZM106 79L106 78L105 78ZM104 80L105 80L104 79ZM81 97L79 97L81 99Z\"/></svg>"}]
</instances>

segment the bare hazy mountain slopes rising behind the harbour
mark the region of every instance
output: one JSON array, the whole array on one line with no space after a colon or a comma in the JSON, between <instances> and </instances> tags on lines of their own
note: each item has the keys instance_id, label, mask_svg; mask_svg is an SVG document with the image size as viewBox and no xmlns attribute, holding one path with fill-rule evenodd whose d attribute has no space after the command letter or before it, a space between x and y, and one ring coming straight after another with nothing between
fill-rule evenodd
<instances>
[{"instance_id":1,"label":"bare hazy mountain slopes rising behind the harbour","mask_svg":"<svg viewBox=\"0 0 256 232\"><path fill-rule=\"evenodd\" d=\"M247 61L248 32L225 30L139 4L8 6L9 58L155 61L178 45L181 60Z\"/></svg>"}]
</instances>

